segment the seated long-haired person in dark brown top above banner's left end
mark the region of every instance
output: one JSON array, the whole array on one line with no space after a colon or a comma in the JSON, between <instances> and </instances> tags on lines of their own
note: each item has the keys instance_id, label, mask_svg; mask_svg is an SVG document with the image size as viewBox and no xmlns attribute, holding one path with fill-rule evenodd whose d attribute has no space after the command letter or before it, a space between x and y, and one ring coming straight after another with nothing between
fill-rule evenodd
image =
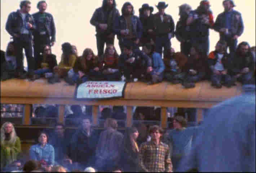
<instances>
[{"instance_id":1,"label":"seated long-haired person in dark brown top above banner's left end","mask_svg":"<svg viewBox=\"0 0 256 173\"><path fill-rule=\"evenodd\" d=\"M65 81L71 85L78 82L83 83L92 77L102 77L98 57L94 55L90 48L84 49L83 55L76 59L73 70L74 74L65 78Z\"/></svg>"}]
</instances>

